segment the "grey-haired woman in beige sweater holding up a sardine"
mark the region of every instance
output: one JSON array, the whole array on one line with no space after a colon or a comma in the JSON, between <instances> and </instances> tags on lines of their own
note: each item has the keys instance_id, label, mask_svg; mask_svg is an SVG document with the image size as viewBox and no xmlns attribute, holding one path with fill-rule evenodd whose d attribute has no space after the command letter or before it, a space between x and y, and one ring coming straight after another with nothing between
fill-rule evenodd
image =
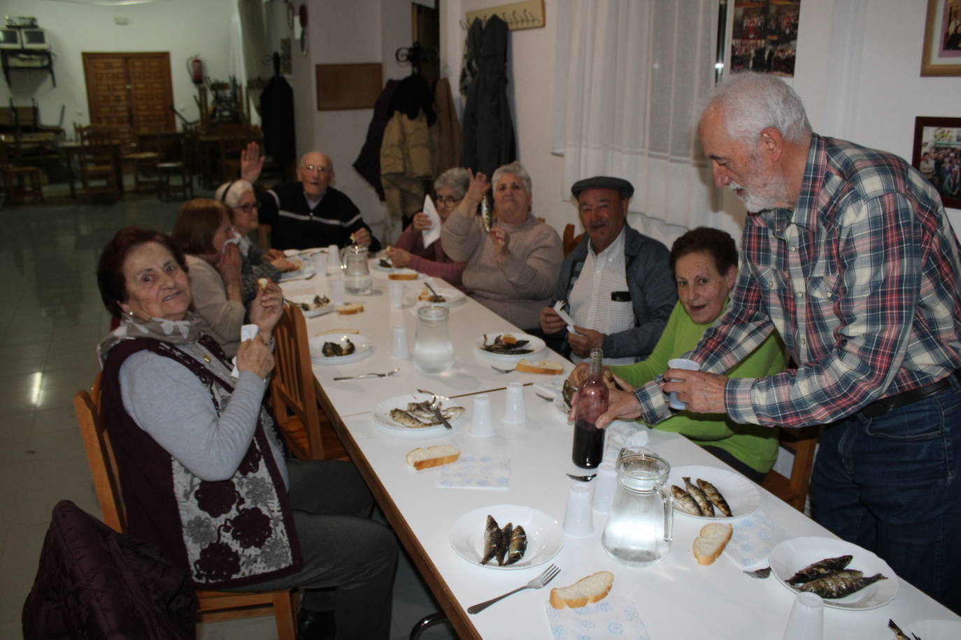
<instances>
[{"instance_id":1,"label":"grey-haired woman in beige sweater holding up a sardine","mask_svg":"<svg viewBox=\"0 0 961 640\"><path fill-rule=\"evenodd\" d=\"M440 241L451 258L467 262L463 284L471 297L522 329L538 327L564 259L560 238L531 215L530 176L519 162L494 172L489 231L478 215L488 186L483 174L471 176L467 195L440 229Z\"/></svg>"}]
</instances>

